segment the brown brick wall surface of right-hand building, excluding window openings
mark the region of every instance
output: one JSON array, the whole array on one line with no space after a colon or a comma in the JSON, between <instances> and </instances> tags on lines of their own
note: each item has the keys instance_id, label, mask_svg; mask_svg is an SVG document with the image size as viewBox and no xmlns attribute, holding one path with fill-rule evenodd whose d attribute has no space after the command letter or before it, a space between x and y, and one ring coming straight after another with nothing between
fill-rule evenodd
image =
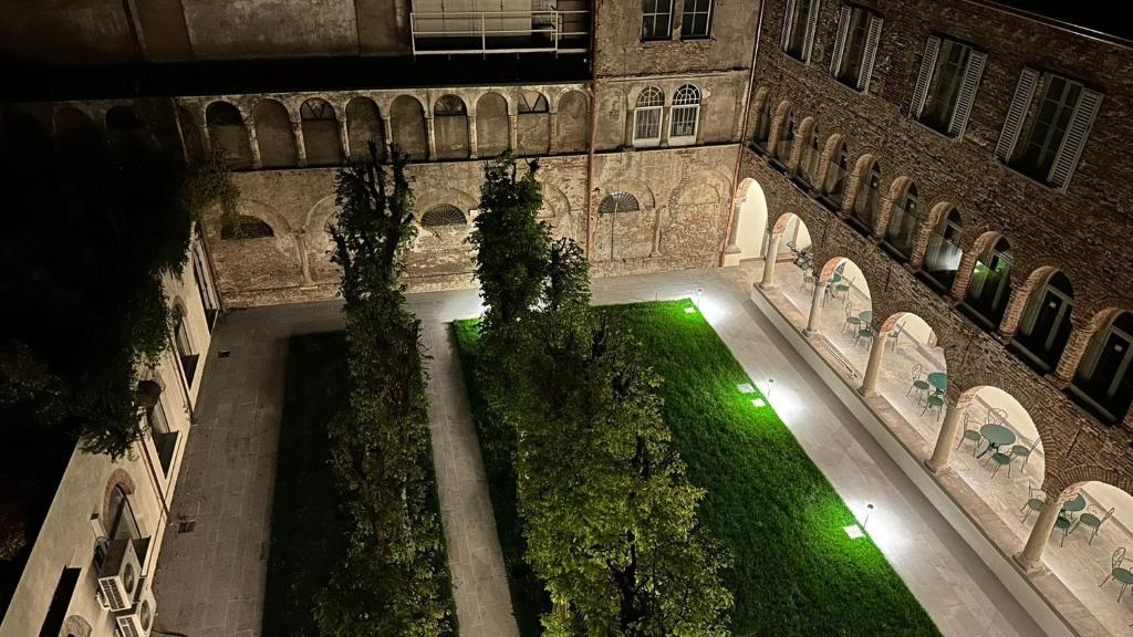
<instances>
[{"instance_id":1,"label":"brown brick wall surface of right-hand building, excluding window openings","mask_svg":"<svg viewBox=\"0 0 1133 637\"><path fill-rule=\"evenodd\" d=\"M1049 492L1075 482L1098 479L1133 492L1131 419L1123 426L1101 424L1072 402L1066 385L1089 345L1089 337L1117 308L1133 308L1133 228L1126 207L1133 201L1133 168L1123 159L1121 139L1133 133L1133 56L1125 45L1054 28L999 9L960 2L871 1L885 19L868 93L834 79L830 49L840 5L821 2L810 63L786 56L780 45L783 0L766 7L760 54L752 86L748 130L757 129L763 109L772 116L770 139L789 113L795 135L789 158L772 161L744 152L740 178L759 182L774 223L798 214L813 239L816 269L829 258L851 258L868 279L878 325L896 312L913 312L936 331L948 363L953 399L981 385L1006 390L1024 405L1039 428L1046 451ZM913 85L929 35L955 37L987 52L971 117L954 139L910 118ZM1060 73L1105 94L1076 171L1065 190L1051 188L1007 168L994 156L997 141L1023 67ZM846 201L832 212L818 192L792 181L810 126L823 141L825 175L837 141L846 143L850 176ZM832 141L837 136L837 141ZM883 212L877 227L849 223L859 178L872 162L881 168ZM908 262L880 244L893 199L911 180L925 211L917 246ZM821 178L816 180L821 182ZM741 190L743 186L741 185ZM964 258L951 292L942 295L917 272L932 228L955 206L963 221ZM988 332L957 311L974 260L999 237L1011 245L1013 297L998 329ZM1040 375L1007 343L1037 282L1054 269L1073 283L1074 332L1058 368Z\"/></svg>"}]
</instances>

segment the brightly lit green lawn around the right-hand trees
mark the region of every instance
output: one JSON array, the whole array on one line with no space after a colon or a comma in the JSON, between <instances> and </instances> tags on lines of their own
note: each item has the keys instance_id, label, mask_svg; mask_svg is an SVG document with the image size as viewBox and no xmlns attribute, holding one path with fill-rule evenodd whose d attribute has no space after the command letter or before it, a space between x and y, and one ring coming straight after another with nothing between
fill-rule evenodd
<instances>
[{"instance_id":1,"label":"brightly lit green lawn around the right-hand trees","mask_svg":"<svg viewBox=\"0 0 1133 637\"><path fill-rule=\"evenodd\" d=\"M734 555L724 576L735 595L733 632L938 635L877 546L846 536L842 527L854 523L852 512L775 411L752 406L757 394L739 393L735 385L751 379L704 317L684 312L690 305L603 311L625 321L665 381L665 422L690 481L707 492L700 519ZM468 368L475 328L458 325L458 337ZM501 485L491 479L493 501L510 495L514 511L513 483L496 493ZM518 523L501 520L506 507L495 508L503 535Z\"/></svg>"}]
</instances>

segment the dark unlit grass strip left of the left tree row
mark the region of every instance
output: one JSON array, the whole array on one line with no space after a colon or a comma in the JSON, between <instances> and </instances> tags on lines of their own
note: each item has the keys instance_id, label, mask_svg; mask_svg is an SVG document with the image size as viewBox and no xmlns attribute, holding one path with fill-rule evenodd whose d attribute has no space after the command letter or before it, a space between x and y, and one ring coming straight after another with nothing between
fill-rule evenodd
<instances>
[{"instance_id":1,"label":"dark unlit grass strip left of the left tree row","mask_svg":"<svg viewBox=\"0 0 1133 637\"><path fill-rule=\"evenodd\" d=\"M315 595L342 559L350 518L334 478L326 423L350 398L343 332L292 337L272 502L264 635L318 637Z\"/></svg>"}]
</instances>

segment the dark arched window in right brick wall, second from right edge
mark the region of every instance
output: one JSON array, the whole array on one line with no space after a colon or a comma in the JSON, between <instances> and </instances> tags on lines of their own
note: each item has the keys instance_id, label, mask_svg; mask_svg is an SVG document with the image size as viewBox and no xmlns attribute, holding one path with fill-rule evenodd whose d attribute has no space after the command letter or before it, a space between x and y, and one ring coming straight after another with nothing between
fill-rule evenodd
<instances>
[{"instance_id":1,"label":"dark arched window in right brick wall, second from right edge","mask_svg":"<svg viewBox=\"0 0 1133 637\"><path fill-rule=\"evenodd\" d=\"M1012 345L1041 372L1058 366L1070 339L1074 288L1060 270L1031 291Z\"/></svg>"}]
</instances>

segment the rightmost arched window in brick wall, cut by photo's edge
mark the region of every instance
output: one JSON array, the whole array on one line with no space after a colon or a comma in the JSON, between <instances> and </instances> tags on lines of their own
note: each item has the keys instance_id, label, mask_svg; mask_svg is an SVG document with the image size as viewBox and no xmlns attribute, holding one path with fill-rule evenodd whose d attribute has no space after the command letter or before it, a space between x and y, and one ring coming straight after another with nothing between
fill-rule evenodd
<instances>
[{"instance_id":1,"label":"rightmost arched window in brick wall, cut by photo's edge","mask_svg":"<svg viewBox=\"0 0 1133 637\"><path fill-rule=\"evenodd\" d=\"M1133 314L1122 312L1090 340L1071 385L1074 394L1105 421L1121 421L1133 402L1131 363Z\"/></svg>"}]
</instances>

